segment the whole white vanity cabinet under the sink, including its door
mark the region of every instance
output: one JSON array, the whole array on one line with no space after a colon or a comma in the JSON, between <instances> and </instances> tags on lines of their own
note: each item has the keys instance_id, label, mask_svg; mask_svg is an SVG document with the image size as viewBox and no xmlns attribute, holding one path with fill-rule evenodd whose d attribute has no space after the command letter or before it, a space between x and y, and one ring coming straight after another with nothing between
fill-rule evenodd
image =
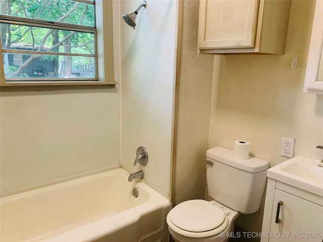
<instances>
[{"instance_id":1,"label":"whole white vanity cabinet under the sink, including its door","mask_svg":"<svg viewBox=\"0 0 323 242\"><path fill-rule=\"evenodd\" d=\"M268 178L261 242L322 242L323 198Z\"/></svg>"}]
</instances>

